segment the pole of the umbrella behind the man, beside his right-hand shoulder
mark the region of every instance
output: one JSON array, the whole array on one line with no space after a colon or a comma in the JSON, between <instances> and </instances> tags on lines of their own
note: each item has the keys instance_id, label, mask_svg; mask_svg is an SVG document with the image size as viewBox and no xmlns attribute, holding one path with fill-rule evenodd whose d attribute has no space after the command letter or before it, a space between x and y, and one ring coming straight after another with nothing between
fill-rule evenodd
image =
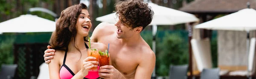
<instances>
[{"instance_id":1,"label":"pole of the umbrella behind the man, beside his right-hand shoulder","mask_svg":"<svg viewBox=\"0 0 256 79\"><path fill-rule=\"evenodd\" d=\"M156 34L157 34L157 25L152 25L152 35L153 35L153 40L152 40L152 49L156 55ZM157 79L156 78L156 67L154 67L154 71L153 71L153 74L152 74L152 77Z\"/></svg>"}]
</instances>

